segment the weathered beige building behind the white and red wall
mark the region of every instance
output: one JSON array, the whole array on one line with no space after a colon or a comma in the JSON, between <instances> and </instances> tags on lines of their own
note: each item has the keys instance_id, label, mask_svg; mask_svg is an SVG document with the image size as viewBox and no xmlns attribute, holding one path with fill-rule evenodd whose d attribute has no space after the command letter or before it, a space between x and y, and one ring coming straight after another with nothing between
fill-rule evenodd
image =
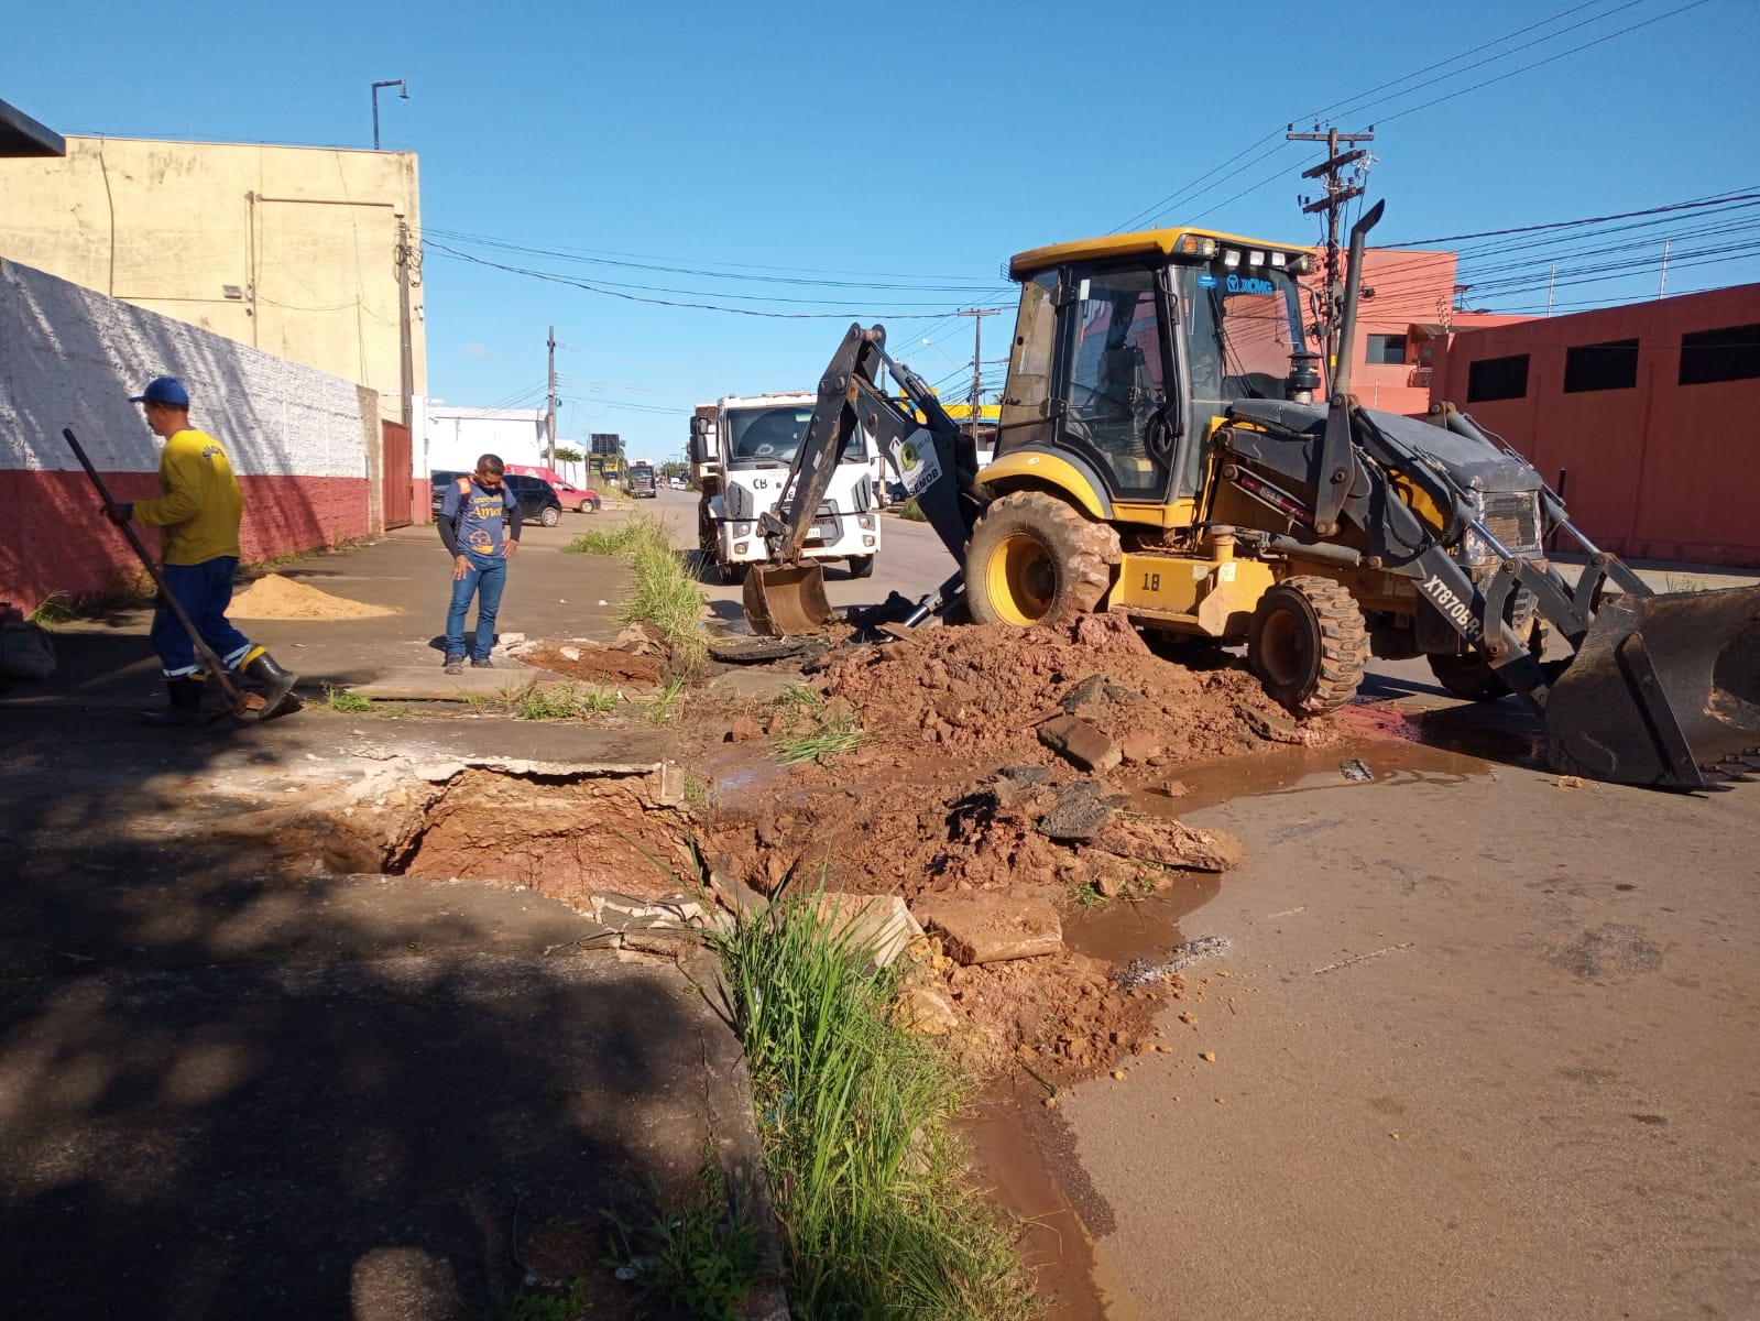
<instances>
[{"instance_id":1,"label":"weathered beige building behind the white and red wall","mask_svg":"<svg viewBox=\"0 0 1760 1321\"><path fill-rule=\"evenodd\" d=\"M69 137L0 160L0 257L356 380L385 419L426 393L414 153Z\"/></svg>"}]
</instances>

